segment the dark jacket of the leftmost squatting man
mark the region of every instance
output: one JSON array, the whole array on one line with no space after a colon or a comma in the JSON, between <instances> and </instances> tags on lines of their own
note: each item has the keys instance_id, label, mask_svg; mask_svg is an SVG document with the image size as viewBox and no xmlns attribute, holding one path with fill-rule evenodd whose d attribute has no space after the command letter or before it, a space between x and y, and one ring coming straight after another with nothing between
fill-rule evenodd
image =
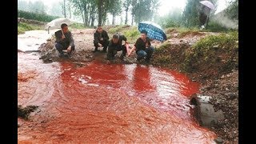
<instances>
[{"instance_id":1,"label":"dark jacket of the leftmost squatting man","mask_svg":"<svg viewBox=\"0 0 256 144\"><path fill-rule=\"evenodd\" d=\"M72 38L72 34L68 31L65 35L65 38L62 39L62 30L58 30L55 32L56 41L63 46L74 46L74 39Z\"/></svg>"}]
</instances>

